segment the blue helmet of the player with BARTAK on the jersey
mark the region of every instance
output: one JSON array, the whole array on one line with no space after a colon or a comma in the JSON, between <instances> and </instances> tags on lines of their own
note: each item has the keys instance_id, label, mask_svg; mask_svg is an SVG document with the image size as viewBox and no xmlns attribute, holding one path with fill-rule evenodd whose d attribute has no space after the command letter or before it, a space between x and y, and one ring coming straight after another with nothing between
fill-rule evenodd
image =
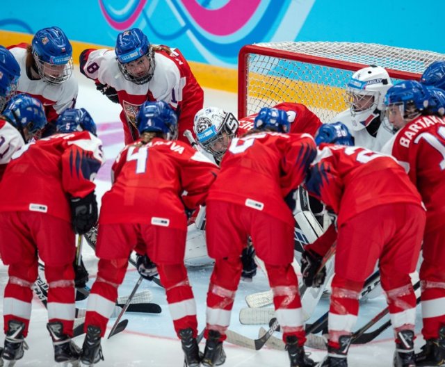
<instances>
[{"instance_id":1,"label":"blue helmet of the player with BARTAK on the jersey","mask_svg":"<svg viewBox=\"0 0 445 367\"><path fill-rule=\"evenodd\" d=\"M405 120L412 120L428 107L428 90L418 81L401 81L389 88L385 95L385 106L396 105Z\"/></svg>"}]
</instances>

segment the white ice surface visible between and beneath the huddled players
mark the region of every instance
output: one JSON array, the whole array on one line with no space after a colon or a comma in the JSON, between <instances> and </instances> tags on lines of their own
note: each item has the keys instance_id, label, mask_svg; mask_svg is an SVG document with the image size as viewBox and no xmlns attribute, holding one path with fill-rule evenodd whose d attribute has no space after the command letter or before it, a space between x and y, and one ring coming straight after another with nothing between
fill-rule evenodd
<instances>
[{"instance_id":1,"label":"white ice surface visible between and beneath the huddled players","mask_svg":"<svg viewBox=\"0 0 445 367\"><path fill-rule=\"evenodd\" d=\"M97 123L99 138L104 142L104 152L107 160L96 179L97 197L100 198L111 186L110 168L118 152L124 147L122 123L119 120L120 106L111 103L106 97L95 90L94 83L88 81L85 76L78 73L76 77L79 80L79 98L76 107L84 107L90 112ZM236 115L236 95L229 92L207 89L205 90L204 106L218 106ZM90 282L88 284L91 286L97 272L97 260L95 259L94 252L86 245L85 241L83 256L90 272ZM205 325L205 301L211 270L211 266L201 268L188 267L188 275L197 303L197 316L200 330L202 330ZM129 295L137 279L138 272L129 265L124 283L119 288L119 294ZM3 300L3 291L7 281L7 268L1 264L1 300ZM163 288L156 286L156 284L152 282L144 281L139 291L145 288L152 291L154 296L152 302L161 305L162 313L157 315L125 313L124 318L129 320L127 329L109 340L102 340L105 361L100 362L97 366L183 366L184 355L172 326L168 305L165 300L165 292ZM252 283L240 283L232 311L230 329L249 336L252 339L258 337L258 331L261 325L241 325L238 320L238 315L240 309L247 307L247 304L245 304L246 295L266 290L268 290L268 284L261 270L259 270L257 277L254 277ZM0 309L3 310L2 303L3 302L0 302ZM328 303L328 299L322 299L309 322L316 320L316 318L325 313L328 308ZM357 329L367 323L375 314L384 309L385 306L385 298L382 295L373 300L362 302L360 305ZM77 307L85 308L86 301L77 302ZM387 317L384 318L382 322L386 320ZM115 318L112 318L108 323L108 328L111 328L114 322ZM15 366L58 366L58 364L54 362L53 348L46 329L46 323L46 309L44 309L43 304L38 298L35 297L29 336L26 338L29 350L25 352L22 360L17 361ZM418 351L420 346L423 345L423 339L419 334L421 329L421 313L419 307L417 309L416 323L417 339L415 345L416 351ZM3 325L3 318L0 320L0 325ZM381 325L381 323L378 325ZM268 326L264 325L264 327L267 328ZM108 336L108 332L106 335ZM280 337L280 334L275 333L275 336ZM83 343L83 336L79 336L75 341L81 345ZM0 345L3 345L3 337L0 338ZM200 349L202 351L204 350L204 341L200 344ZM227 367L289 366L287 352L272 350L267 346L255 352L230 343L225 343L225 350L227 360L224 366ZM325 351L323 350L307 348L307 352L311 352L312 358L316 361L320 361L325 355ZM392 332L391 329L387 329L377 340L371 343L352 346L348 357L349 366L392 366L393 352L394 342L392 340Z\"/></svg>"}]
</instances>

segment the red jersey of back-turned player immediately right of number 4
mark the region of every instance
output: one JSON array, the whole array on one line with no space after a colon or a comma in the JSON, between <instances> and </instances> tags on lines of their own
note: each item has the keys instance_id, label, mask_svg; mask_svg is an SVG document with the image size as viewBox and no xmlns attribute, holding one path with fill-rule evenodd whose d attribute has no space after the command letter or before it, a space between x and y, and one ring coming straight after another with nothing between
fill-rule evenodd
<instances>
[{"instance_id":1,"label":"red jersey of back-turned player immediately right of number 4","mask_svg":"<svg viewBox=\"0 0 445 367\"><path fill-rule=\"evenodd\" d=\"M315 156L316 145L308 134L267 132L234 138L208 199L250 206L293 225L283 198L300 185Z\"/></svg>"}]
</instances>

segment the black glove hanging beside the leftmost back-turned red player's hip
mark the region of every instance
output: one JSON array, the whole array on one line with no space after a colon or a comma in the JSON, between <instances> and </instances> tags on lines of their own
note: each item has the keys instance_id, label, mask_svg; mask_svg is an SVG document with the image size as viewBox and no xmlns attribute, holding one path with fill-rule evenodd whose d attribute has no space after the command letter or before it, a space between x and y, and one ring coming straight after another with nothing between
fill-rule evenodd
<instances>
[{"instance_id":1,"label":"black glove hanging beside the leftmost back-turned red player's hip","mask_svg":"<svg viewBox=\"0 0 445 367\"><path fill-rule=\"evenodd\" d=\"M97 222L97 202L95 192L92 191L86 197L72 197L71 220L76 234L85 234Z\"/></svg>"}]
</instances>

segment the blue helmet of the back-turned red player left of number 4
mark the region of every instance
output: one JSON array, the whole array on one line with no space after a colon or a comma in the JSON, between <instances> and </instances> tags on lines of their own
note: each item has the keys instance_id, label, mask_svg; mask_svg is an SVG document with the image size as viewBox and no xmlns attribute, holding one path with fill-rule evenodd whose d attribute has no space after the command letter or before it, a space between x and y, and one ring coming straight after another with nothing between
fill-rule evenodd
<instances>
[{"instance_id":1,"label":"blue helmet of the back-turned red player left of number 4","mask_svg":"<svg viewBox=\"0 0 445 367\"><path fill-rule=\"evenodd\" d=\"M74 131L90 131L97 136L97 127L85 108L68 108L58 117L56 122L58 133L72 133Z\"/></svg>"}]
</instances>

